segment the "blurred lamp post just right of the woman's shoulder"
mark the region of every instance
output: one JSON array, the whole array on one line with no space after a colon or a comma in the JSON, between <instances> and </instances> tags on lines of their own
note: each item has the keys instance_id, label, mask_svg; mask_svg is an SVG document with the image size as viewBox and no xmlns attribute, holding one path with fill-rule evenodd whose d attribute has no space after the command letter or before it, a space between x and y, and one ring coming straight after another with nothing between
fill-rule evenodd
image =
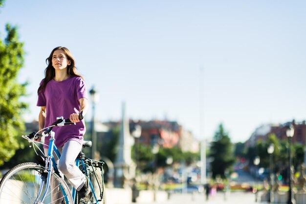
<instances>
[{"instance_id":1,"label":"blurred lamp post just right of the woman's shoulder","mask_svg":"<svg viewBox=\"0 0 306 204\"><path fill-rule=\"evenodd\" d=\"M99 101L99 93L91 87L89 90L91 102L92 102L92 117L91 117L91 141L92 141L92 148L91 148L91 159L96 159L96 151L97 151L97 135L94 127L95 123L95 106L96 103Z\"/></svg>"}]
</instances>

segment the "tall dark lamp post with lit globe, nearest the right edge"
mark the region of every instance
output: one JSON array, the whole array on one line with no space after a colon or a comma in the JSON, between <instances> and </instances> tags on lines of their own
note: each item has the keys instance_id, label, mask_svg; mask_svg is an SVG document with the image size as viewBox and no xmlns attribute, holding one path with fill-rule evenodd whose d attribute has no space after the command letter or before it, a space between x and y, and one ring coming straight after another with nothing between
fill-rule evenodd
<instances>
[{"instance_id":1,"label":"tall dark lamp post with lit globe, nearest the right edge","mask_svg":"<svg viewBox=\"0 0 306 204\"><path fill-rule=\"evenodd\" d=\"M291 180L291 165L292 165L292 158L291 158L291 142L292 142L292 137L294 135L294 127L291 124L288 126L286 130L286 135L288 137L288 142L289 142L289 147L288 147L288 156L289 156L289 191L288 191L288 202L287 204L295 204L294 197L292 197L292 180Z\"/></svg>"}]
</instances>

